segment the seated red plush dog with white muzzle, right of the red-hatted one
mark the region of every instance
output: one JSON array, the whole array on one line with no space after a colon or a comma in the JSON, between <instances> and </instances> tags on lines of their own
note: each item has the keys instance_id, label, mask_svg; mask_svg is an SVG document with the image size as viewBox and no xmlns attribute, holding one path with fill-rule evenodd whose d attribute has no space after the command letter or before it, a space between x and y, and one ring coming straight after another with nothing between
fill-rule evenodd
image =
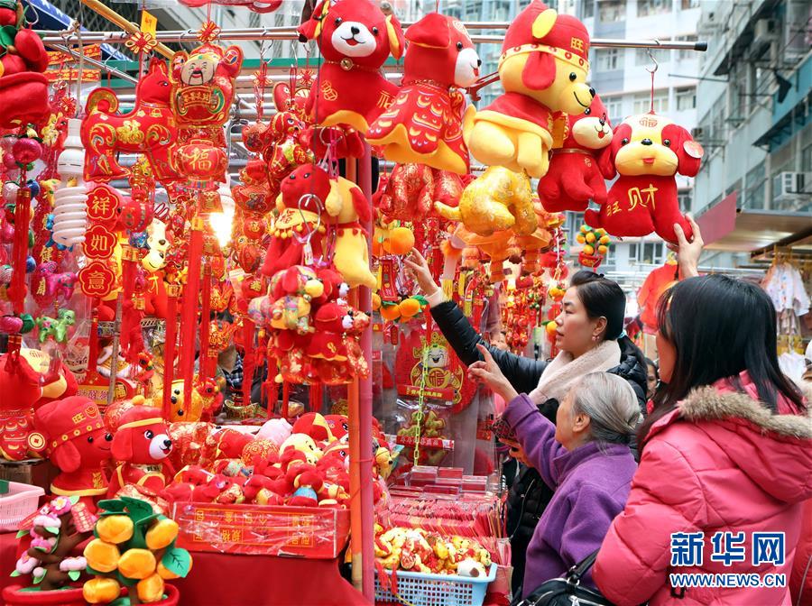
<instances>
[{"instance_id":1,"label":"seated red plush dog with white muzzle, right of the red-hatted one","mask_svg":"<svg viewBox=\"0 0 812 606\"><path fill-rule=\"evenodd\" d=\"M174 472L167 457L172 441L161 411L149 406L134 406L121 418L113 436L113 458L119 465L107 490L112 499L126 484L134 484L158 494Z\"/></svg>"}]
</instances>

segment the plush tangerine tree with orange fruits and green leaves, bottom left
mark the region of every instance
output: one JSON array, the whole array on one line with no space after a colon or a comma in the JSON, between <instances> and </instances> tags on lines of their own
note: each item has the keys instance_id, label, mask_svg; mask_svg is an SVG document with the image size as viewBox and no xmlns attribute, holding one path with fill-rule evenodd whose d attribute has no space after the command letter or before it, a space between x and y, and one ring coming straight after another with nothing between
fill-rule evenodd
<instances>
[{"instance_id":1,"label":"plush tangerine tree with orange fruits and green leaves, bottom left","mask_svg":"<svg viewBox=\"0 0 812 606\"><path fill-rule=\"evenodd\" d=\"M85 547L88 574L85 600L116 606L161 601L164 580L189 574L191 556L175 546L178 524L154 513L144 500L122 497L98 503L94 538ZM122 585L127 597L120 598Z\"/></svg>"}]
</instances>

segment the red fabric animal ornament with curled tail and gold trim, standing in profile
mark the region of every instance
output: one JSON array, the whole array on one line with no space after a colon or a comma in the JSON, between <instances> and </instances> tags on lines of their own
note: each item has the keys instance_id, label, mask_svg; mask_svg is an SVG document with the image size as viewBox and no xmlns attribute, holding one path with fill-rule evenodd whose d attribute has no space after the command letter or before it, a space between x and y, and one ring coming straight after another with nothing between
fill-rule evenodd
<instances>
[{"instance_id":1,"label":"red fabric animal ornament with curled tail and gold trim, standing in profile","mask_svg":"<svg viewBox=\"0 0 812 606\"><path fill-rule=\"evenodd\" d=\"M180 178L175 164L178 130L170 107L171 85L166 63L150 60L147 75L135 87L135 106L116 114L119 101L111 88L97 88L88 97L82 122L85 179L125 179L130 171L116 157L120 152L143 153L152 175L161 182Z\"/></svg>"}]
</instances>

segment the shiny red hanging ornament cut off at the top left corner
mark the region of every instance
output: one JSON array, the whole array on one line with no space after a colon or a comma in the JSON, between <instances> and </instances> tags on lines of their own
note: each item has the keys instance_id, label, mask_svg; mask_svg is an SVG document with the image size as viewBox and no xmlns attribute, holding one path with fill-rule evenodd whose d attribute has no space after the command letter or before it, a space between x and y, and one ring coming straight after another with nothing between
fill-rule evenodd
<instances>
[{"instance_id":1,"label":"shiny red hanging ornament cut off at the top left corner","mask_svg":"<svg viewBox=\"0 0 812 606\"><path fill-rule=\"evenodd\" d=\"M28 28L23 3L0 0L0 128L39 123L51 113L48 53L42 39Z\"/></svg>"}]
</instances>

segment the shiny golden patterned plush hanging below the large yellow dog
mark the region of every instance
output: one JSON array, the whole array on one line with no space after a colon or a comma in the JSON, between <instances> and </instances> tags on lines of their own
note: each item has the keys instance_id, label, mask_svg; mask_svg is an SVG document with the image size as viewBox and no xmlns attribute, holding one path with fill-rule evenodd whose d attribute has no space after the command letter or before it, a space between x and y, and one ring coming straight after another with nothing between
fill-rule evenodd
<instances>
[{"instance_id":1,"label":"shiny golden patterned plush hanging below the large yellow dog","mask_svg":"<svg viewBox=\"0 0 812 606\"><path fill-rule=\"evenodd\" d=\"M492 235L512 229L515 234L532 234L539 226L533 209L528 176L500 166L491 166L463 190L459 207L435 205L440 215L461 221L466 230Z\"/></svg>"}]
</instances>

